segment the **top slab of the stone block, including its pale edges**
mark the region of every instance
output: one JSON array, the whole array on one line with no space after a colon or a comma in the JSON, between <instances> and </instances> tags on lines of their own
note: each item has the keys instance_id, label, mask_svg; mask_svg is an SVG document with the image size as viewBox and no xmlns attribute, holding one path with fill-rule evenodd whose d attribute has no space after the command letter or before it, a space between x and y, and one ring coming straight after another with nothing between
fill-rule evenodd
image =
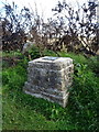
<instances>
[{"instance_id":1,"label":"top slab of the stone block, including its pale edges","mask_svg":"<svg viewBox=\"0 0 99 132\"><path fill-rule=\"evenodd\" d=\"M52 57L45 56L29 62L29 67L45 68L47 70L62 70L73 65L73 59L69 57Z\"/></svg>"}]
</instances>

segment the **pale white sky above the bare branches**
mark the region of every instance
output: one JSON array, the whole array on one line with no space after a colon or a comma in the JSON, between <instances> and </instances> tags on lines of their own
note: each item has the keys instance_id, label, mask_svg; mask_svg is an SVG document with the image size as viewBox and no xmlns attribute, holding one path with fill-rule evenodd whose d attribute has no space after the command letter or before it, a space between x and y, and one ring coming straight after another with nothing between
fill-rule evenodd
<instances>
[{"instance_id":1,"label":"pale white sky above the bare branches","mask_svg":"<svg viewBox=\"0 0 99 132\"><path fill-rule=\"evenodd\" d=\"M12 3L12 1L14 1L19 8L31 7L32 9L34 9L36 3L38 14L41 15L43 12L44 18L51 18L53 14L52 9L55 8L58 1L63 1L63 0L0 0L0 1L1 2L7 1L8 3ZM79 4L82 4L88 0L66 0L66 2L72 3L73 7L76 6L77 1L79 2ZM0 7L2 6L1 2L0 2Z\"/></svg>"}]
</instances>

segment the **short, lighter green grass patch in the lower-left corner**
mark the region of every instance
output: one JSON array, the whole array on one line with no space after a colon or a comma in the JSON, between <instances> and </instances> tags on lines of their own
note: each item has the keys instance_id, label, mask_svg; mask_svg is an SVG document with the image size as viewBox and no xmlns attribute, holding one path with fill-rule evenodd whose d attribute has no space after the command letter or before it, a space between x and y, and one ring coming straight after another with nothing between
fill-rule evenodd
<instances>
[{"instance_id":1,"label":"short, lighter green grass patch in the lower-left corner","mask_svg":"<svg viewBox=\"0 0 99 132\"><path fill-rule=\"evenodd\" d=\"M15 94L16 92L14 92L14 95ZM13 97L11 92L9 92L8 95L4 95L4 98L3 98L3 106L4 106L3 107L3 111L4 111L3 129L4 130L35 130L35 129L38 130L38 129L52 129L52 127L55 128L54 122L46 121L44 116L36 112L35 110L32 110L32 107L30 107L23 100L21 101L21 99L23 99L22 98L23 94L19 96L21 96L21 98L19 97L19 100L18 100L16 97Z\"/></svg>"}]
</instances>

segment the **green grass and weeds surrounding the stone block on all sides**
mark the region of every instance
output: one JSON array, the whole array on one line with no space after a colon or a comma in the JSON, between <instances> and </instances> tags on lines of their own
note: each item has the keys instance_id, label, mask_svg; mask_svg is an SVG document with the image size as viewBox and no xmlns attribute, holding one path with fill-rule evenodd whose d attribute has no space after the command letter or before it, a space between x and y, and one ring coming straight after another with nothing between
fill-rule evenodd
<instances>
[{"instance_id":1,"label":"green grass and weeds surrounding the stone block on all sides","mask_svg":"<svg viewBox=\"0 0 99 132\"><path fill-rule=\"evenodd\" d=\"M30 54L32 59L40 57L35 48ZM99 77L98 69L95 69L98 68L96 57L86 58L82 55L64 52L58 54L72 57L75 64L74 82L69 89L70 96L66 108L23 92L28 57L22 57L13 67L6 68L8 66L3 64L3 130L98 131ZM52 51L44 51L44 55L57 56Z\"/></svg>"}]
</instances>

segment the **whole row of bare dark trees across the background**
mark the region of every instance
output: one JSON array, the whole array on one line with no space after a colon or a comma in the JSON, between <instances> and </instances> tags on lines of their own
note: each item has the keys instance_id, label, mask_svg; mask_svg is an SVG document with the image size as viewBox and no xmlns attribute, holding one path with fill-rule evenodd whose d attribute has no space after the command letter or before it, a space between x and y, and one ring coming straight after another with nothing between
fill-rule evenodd
<instances>
[{"instance_id":1,"label":"whole row of bare dark trees across the background","mask_svg":"<svg viewBox=\"0 0 99 132\"><path fill-rule=\"evenodd\" d=\"M95 2L87 2L74 10L65 1L58 1L52 10L54 18L47 19L45 23L44 18L37 14L36 8L36 13L25 7L19 12L14 2L6 3L4 14L0 18L2 50L22 51L29 40L42 48L96 55L99 50L96 8Z\"/></svg>"}]
</instances>

